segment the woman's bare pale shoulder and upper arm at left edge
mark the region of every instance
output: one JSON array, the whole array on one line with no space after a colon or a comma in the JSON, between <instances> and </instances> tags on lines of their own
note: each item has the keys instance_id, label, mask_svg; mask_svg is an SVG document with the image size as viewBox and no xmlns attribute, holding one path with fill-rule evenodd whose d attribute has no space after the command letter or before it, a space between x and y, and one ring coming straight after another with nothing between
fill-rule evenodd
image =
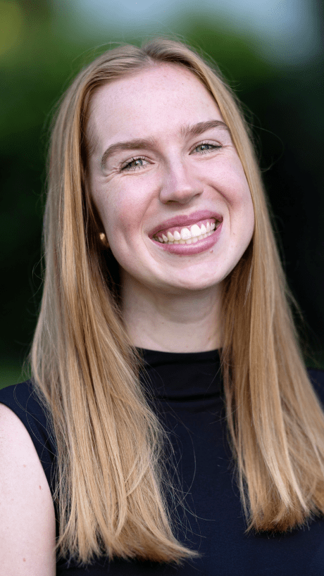
<instances>
[{"instance_id":1,"label":"woman's bare pale shoulder and upper arm at left edge","mask_svg":"<svg viewBox=\"0 0 324 576\"><path fill-rule=\"evenodd\" d=\"M23 422L0 403L0 575L54 576L55 512Z\"/></svg>"}]
</instances>

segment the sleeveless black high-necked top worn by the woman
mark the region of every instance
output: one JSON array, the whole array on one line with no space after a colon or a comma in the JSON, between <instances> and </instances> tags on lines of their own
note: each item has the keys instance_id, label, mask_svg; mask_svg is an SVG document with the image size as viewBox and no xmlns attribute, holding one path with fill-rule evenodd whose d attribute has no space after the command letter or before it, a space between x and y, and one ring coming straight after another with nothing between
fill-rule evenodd
<instances>
[{"instance_id":1,"label":"sleeveless black high-necked top worn by the woman","mask_svg":"<svg viewBox=\"0 0 324 576\"><path fill-rule=\"evenodd\" d=\"M170 470L185 494L184 515L177 508L178 532L189 548L203 556L183 567L151 562L97 559L87 568L59 561L66 576L319 576L324 574L324 518L287 534L244 535L239 489L232 480L226 440L223 388L218 351L169 353L145 350L144 359L154 393L149 402L168 430L174 448ZM309 369L324 406L324 370ZM46 414L32 394L31 382L0 390L0 402L11 408L27 428L53 493L55 443L46 430ZM175 468L177 474L174 473Z\"/></svg>"}]
</instances>

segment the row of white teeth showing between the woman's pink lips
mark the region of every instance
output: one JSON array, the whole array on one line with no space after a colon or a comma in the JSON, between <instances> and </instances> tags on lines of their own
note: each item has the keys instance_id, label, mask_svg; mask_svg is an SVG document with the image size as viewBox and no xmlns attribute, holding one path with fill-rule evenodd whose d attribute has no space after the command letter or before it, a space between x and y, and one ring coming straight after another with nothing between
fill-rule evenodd
<instances>
[{"instance_id":1,"label":"row of white teeth showing between the woman's pink lips","mask_svg":"<svg viewBox=\"0 0 324 576\"><path fill-rule=\"evenodd\" d=\"M220 220L208 218L200 220L190 227L170 227L154 235L156 242L161 244L195 244L213 234L220 225Z\"/></svg>"}]
</instances>

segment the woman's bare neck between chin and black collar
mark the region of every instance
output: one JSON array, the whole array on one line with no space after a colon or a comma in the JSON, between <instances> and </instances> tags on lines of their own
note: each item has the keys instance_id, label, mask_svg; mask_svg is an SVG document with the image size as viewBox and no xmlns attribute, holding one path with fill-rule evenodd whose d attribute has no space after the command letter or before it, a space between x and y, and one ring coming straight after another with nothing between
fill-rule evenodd
<instances>
[{"instance_id":1,"label":"woman's bare neck between chin and black collar","mask_svg":"<svg viewBox=\"0 0 324 576\"><path fill-rule=\"evenodd\" d=\"M123 319L132 344L166 352L220 348L220 296L220 286L169 294L123 282Z\"/></svg>"}]
</instances>

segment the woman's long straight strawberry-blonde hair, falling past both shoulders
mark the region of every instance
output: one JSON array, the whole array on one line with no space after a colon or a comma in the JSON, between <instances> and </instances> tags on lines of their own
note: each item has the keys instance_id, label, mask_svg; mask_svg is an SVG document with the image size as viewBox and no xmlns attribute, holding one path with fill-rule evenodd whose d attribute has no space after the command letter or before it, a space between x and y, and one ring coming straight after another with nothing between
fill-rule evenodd
<instances>
[{"instance_id":1,"label":"woman's long straight strawberry-blonde hair, falling past both shoulders","mask_svg":"<svg viewBox=\"0 0 324 576\"><path fill-rule=\"evenodd\" d=\"M177 541L168 509L167 434L139 383L117 268L99 240L85 187L85 124L96 88L156 63L185 66L215 98L254 204L247 251L225 280L220 350L228 439L247 532L285 531L324 512L324 415L294 327L269 208L249 130L218 72L181 42L106 51L82 70L56 115L44 220L46 275L32 344L32 375L57 443L57 549L181 563L199 556Z\"/></svg>"}]
</instances>

